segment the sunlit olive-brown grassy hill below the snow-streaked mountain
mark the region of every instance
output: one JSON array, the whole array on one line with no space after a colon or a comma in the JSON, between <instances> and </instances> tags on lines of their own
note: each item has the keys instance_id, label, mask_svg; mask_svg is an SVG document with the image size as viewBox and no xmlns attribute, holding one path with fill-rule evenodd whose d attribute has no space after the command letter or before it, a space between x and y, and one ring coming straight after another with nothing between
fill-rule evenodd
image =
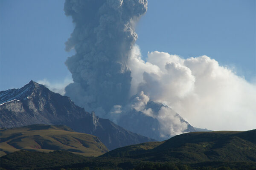
<instances>
[{"instance_id":1,"label":"sunlit olive-brown grassy hill below the snow-streaked mountain","mask_svg":"<svg viewBox=\"0 0 256 170\"><path fill-rule=\"evenodd\" d=\"M98 137L74 132L67 126L29 125L1 129L0 133L1 154L22 149L41 152L66 150L83 156L99 156L108 151Z\"/></svg>"}]
</instances>

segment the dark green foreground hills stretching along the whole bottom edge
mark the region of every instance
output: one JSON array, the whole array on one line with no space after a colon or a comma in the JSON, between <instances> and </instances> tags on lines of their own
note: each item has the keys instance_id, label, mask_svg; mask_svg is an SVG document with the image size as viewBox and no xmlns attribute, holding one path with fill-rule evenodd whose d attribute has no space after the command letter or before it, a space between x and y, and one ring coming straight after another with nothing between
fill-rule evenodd
<instances>
[{"instance_id":1,"label":"dark green foreground hills stretching along the whole bottom edge","mask_svg":"<svg viewBox=\"0 0 256 170\"><path fill-rule=\"evenodd\" d=\"M6 170L255 170L256 130L193 132L165 142L121 147L102 156L17 151L1 158ZM67 161L65 161L67 160Z\"/></svg>"}]
</instances>

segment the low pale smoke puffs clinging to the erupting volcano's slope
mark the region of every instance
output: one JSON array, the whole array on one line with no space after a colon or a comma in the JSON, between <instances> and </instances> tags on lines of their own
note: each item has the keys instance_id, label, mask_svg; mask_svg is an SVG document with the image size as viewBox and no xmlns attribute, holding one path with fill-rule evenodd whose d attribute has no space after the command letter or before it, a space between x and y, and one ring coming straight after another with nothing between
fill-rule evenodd
<instances>
[{"instance_id":1,"label":"low pale smoke puffs clinging to the erupting volcano's slope","mask_svg":"<svg viewBox=\"0 0 256 170\"><path fill-rule=\"evenodd\" d=\"M151 102L151 103L154 103L154 102ZM153 130L159 129L158 137L151 136L154 139L158 139L158 140L169 139L172 136L184 133L184 131L186 131L188 127L188 123L185 122L180 117L180 115L178 115L175 111L173 111L167 105L163 105L159 103L154 103L154 105L151 105L150 98L147 95L145 95L143 91L140 91L139 93L131 97L129 104L125 106L122 114L128 113L129 116L132 116L134 111L131 111L131 110L135 110L136 112L143 113L144 115L154 118L159 122L158 127L146 125L147 123L144 123L143 119L140 120L139 122L141 125L145 125L148 128L149 127L153 128ZM123 117L119 116L119 120L118 120L122 122L122 120L120 119L123 119ZM135 122L135 121L137 120L134 119L131 122ZM122 125L124 125L124 123L122 123ZM147 136L150 136L150 134L148 134Z\"/></svg>"}]
</instances>

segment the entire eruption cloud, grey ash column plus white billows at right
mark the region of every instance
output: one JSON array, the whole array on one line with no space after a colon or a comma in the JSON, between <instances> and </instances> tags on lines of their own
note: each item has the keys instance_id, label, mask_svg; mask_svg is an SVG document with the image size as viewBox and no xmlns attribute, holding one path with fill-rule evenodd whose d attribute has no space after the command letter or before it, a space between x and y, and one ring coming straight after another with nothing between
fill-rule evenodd
<instances>
[{"instance_id":1,"label":"entire eruption cloud, grey ash column plus white billows at right","mask_svg":"<svg viewBox=\"0 0 256 170\"><path fill-rule=\"evenodd\" d=\"M150 130L160 130L155 139L187 130L177 113L212 130L255 128L256 86L229 68L207 56L154 51L142 59L134 25L146 10L147 0L66 0L65 14L76 24L66 42L76 51L65 62L73 78L66 95L119 125L125 117L150 119Z\"/></svg>"}]
</instances>

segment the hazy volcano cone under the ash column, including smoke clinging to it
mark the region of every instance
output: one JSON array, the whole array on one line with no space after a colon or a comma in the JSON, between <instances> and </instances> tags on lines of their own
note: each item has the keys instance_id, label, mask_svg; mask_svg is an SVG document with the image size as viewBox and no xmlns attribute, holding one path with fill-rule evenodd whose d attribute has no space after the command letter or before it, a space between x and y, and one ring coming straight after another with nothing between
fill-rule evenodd
<instances>
[{"instance_id":1,"label":"hazy volcano cone under the ash column, including smoke clinging to it","mask_svg":"<svg viewBox=\"0 0 256 170\"><path fill-rule=\"evenodd\" d=\"M113 107L106 117L131 132L158 141L181 133L211 131L193 127L172 108L147 99L143 93L132 96L125 107Z\"/></svg>"}]
</instances>

